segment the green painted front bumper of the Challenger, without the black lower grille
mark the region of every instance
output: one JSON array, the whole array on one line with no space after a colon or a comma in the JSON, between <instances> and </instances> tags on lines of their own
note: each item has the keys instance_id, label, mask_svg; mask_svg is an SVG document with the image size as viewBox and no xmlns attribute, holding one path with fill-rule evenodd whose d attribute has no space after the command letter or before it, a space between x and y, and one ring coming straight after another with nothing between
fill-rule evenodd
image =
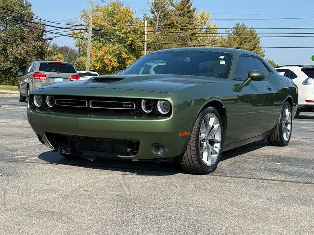
<instances>
[{"instance_id":1,"label":"green painted front bumper of the Challenger, without the black lower grille","mask_svg":"<svg viewBox=\"0 0 314 235\"><path fill-rule=\"evenodd\" d=\"M45 145L56 149L49 138L49 133L75 136L88 139L105 138L109 140L127 140L139 144L136 154L121 155L122 158L160 159L179 156L184 152L189 135L179 136L181 132L191 131L182 121L173 116L128 117L128 116L93 116L57 113L49 111L27 110L27 118L35 133ZM160 156L154 150L155 145L162 145L165 154ZM98 150L99 151L99 150ZM102 153L95 153L102 155ZM112 154L110 154L112 155ZM106 154L104 153L104 157Z\"/></svg>"}]
</instances>

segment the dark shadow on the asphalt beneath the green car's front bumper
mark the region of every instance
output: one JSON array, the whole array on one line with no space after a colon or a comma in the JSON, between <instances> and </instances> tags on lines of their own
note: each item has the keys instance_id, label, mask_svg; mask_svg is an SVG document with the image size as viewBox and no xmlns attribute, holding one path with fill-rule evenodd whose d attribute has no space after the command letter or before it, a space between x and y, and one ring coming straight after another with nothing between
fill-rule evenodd
<instances>
[{"instance_id":1,"label":"dark shadow on the asphalt beneath the green car's front bumper","mask_svg":"<svg viewBox=\"0 0 314 235\"><path fill-rule=\"evenodd\" d=\"M105 158L96 158L91 161L86 158L63 157L54 151L44 152L40 154L38 158L51 164L119 171L119 174L165 176L183 173L179 165L175 163L153 163L150 161L132 162L131 160L111 160Z\"/></svg>"}]
</instances>

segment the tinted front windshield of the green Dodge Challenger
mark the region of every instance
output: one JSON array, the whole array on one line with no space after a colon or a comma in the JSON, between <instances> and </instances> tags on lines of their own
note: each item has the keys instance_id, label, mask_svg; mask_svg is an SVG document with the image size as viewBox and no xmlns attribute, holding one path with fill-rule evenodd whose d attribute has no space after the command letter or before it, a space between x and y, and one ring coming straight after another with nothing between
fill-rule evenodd
<instances>
[{"instance_id":1,"label":"tinted front windshield of the green Dodge Challenger","mask_svg":"<svg viewBox=\"0 0 314 235\"><path fill-rule=\"evenodd\" d=\"M143 56L120 74L178 74L228 78L231 54L222 52L157 52Z\"/></svg>"}]
</instances>

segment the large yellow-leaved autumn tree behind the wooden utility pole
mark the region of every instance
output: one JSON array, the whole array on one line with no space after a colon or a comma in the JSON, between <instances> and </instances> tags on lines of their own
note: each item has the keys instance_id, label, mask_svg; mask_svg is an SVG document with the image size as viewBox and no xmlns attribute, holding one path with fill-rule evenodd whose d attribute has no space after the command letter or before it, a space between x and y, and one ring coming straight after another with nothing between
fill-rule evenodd
<instances>
[{"instance_id":1,"label":"large yellow-leaved autumn tree behind the wooden utility pole","mask_svg":"<svg viewBox=\"0 0 314 235\"><path fill-rule=\"evenodd\" d=\"M128 6L119 1L110 1L105 6L96 5L93 14L91 70L100 74L112 74L125 69L143 55L143 42L140 41L144 39L144 23L134 16ZM81 18L86 23L88 15L86 10L81 13ZM81 57L78 63L84 63L86 40L75 40L76 46L80 44Z\"/></svg>"}]
</instances>

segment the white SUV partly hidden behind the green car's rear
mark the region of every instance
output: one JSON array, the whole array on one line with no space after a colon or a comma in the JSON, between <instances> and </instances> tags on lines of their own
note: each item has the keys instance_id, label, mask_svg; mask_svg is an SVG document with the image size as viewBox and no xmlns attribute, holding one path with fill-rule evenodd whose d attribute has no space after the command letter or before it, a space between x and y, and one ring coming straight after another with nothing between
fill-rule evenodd
<instances>
[{"instance_id":1,"label":"white SUV partly hidden behind the green car's rear","mask_svg":"<svg viewBox=\"0 0 314 235\"><path fill-rule=\"evenodd\" d=\"M275 69L292 79L299 88L299 105L294 118L300 112L314 112L314 65L283 65Z\"/></svg>"}]
</instances>

